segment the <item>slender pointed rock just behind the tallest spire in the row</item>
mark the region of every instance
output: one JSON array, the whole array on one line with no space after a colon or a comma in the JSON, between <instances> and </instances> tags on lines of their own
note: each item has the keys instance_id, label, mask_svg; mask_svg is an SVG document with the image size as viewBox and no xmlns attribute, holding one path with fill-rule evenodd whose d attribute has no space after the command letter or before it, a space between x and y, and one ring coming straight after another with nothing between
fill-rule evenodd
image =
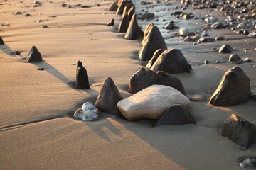
<instances>
[{"instance_id":1,"label":"slender pointed rock just behind the tallest spire in the row","mask_svg":"<svg viewBox=\"0 0 256 170\"><path fill-rule=\"evenodd\" d=\"M142 29L139 28L139 25L136 21L136 16L134 14L132 16L131 22L129 23L129 27L128 27L127 33L125 34L124 38L126 38L128 40L136 40L142 36L143 36Z\"/></svg>"}]
</instances>

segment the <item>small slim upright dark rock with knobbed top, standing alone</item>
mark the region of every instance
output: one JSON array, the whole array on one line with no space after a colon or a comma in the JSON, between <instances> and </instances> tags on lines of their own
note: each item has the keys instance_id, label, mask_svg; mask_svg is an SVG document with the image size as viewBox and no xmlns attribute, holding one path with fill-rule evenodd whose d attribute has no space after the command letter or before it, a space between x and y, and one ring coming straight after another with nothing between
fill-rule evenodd
<instances>
[{"instance_id":1,"label":"small slim upright dark rock with knobbed top, standing alone","mask_svg":"<svg viewBox=\"0 0 256 170\"><path fill-rule=\"evenodd\" d=\"M80 61L77 63L76 86L77 89L90 89L87 71Z\"/></svg>"}]
</instances>

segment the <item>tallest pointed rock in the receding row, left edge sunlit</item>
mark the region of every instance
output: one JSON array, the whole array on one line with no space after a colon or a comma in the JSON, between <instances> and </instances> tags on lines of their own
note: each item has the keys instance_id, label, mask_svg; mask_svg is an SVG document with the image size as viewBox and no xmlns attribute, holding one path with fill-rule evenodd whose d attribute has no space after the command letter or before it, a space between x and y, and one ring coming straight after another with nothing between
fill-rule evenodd
<instances>
[{"instance_id":1,"label":"tallest pointed rock in the receding row, left edge sunlit","mask_svg":"<svg viewBox=\"0 0 256 170\"><path fill-rule=\"evenodd\" d=\"M157 49L167 50L166 42L162 37L157 26L152 26L149 33L146 35L146 41L139 52L139 58L142 61L148 61L153 57Z\"/></svg>"}]
</instances>

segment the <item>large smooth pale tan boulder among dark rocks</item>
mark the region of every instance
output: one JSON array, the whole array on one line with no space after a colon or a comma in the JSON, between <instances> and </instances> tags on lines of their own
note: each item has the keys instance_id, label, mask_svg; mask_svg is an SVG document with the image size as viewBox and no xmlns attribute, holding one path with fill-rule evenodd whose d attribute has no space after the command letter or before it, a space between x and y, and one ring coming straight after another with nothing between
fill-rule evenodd
<instances>
[{"instance_id":1,"label":"large smooth pale tan boulder among dark rocks","mask_svg":"<svg viewBox=\"0 0 256 170\"><path fill-rule=\"evenodd\" d=\"M157 119L171 105L190 107L189 99L178 90L164 85L152 85L117 103L127 120Z\"/></svg>"}]
</instances>

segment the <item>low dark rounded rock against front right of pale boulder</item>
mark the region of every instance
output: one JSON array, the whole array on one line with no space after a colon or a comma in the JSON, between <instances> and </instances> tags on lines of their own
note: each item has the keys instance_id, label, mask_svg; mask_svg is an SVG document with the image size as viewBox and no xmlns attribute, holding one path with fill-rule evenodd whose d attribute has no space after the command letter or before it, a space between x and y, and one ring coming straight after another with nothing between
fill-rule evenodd
<instances>
[{"instance_id":1,"label":"low dark rounded rock against front right of pale boulder","mask_svg":"<svg viewBox=\"0 0 256 170\"><path fill-rule=\"evenodd\" d=\"M169 108L166 108L159 119L156 121L155 126L159 125L184 125L184 124L196 124L193 116L188 108L180 104L174 104Z\"/></svg>"}]
</instances>

